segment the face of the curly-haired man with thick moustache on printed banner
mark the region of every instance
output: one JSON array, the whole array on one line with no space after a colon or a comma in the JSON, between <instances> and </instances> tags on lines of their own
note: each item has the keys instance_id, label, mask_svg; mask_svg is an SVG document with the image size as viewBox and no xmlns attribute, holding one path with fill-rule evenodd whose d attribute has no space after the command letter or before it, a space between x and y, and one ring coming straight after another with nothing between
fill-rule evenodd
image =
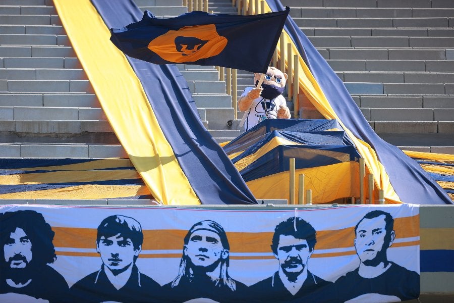
<instances>
[{"instance_id":1,"label":"face of the curly-haired man with thick moustache on printed banner","mask_svg":"<svg viewBox=\"0 0 454 303\"><path fill-rule=\"evenodd\" d=\"M312 255L307 240L292 235L280 235L277 246L279 265L284 273L301 273Z\"/></svg>"}]
</instances>

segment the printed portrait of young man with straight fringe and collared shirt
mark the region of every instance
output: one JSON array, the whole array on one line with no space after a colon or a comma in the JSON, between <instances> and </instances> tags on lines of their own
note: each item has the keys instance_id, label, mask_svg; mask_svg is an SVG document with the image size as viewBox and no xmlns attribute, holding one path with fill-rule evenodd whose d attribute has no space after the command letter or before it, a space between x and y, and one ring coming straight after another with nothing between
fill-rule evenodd
<instances>
[{"instance_id":1,"label":"printed portrait of young man with straight fringe and collared shirt","mask_svg":"<svg viewBox=\"0 0 454 303\"><path fill-rule=\"evenodd\" d=\"M135 219L115 215L102 220L96 236L101 269L71 287L75 302L162 302L160 285L139 272L142 227Z\"/></svg>"}]
</instances>

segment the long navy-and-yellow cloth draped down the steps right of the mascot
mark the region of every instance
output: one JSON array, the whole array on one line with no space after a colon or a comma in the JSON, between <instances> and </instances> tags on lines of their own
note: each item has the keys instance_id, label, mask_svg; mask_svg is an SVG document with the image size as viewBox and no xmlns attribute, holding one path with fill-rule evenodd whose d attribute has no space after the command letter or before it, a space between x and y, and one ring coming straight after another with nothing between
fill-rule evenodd
<instances>
[{"instance_id":1,"label":"long navy-and-yellow cloth draped down the steps right of the mascot","mask_svg":"<svg viewBox=\"0 0 454 303\"><path fill-rule=\"evenodd\" d=\"M266 2L271 11L283 9L278 0ZM384 190L387 202L453 204L447 193L417 162L374 132L342 80L291 17L287 19L284 30L301 56L303 76L299 79L300 87L325 118L337 119L341 123L365 158L376 187Z\"/></svg>"}]
</instances>

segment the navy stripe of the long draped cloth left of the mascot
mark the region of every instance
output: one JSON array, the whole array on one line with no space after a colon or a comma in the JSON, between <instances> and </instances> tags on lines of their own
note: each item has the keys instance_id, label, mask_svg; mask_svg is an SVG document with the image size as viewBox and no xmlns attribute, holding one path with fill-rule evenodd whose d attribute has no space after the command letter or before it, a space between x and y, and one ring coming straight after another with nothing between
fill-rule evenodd
<instances>
[{"instance_id":1,"label":"navy stripe of the long draped cloth left of the mascot","mask_svg":"<svg viewBox=\"0 0 454 303\"><path fill-rule=\"evenodd\" d=\"M109 28L124 27L139 21L143 15L131 0L92 0L92 3ZM203 126L188 84L177 66L154 65L129 57L128 60L201 203L256 204L235 166Z\"/></svg>"}]
</instances>

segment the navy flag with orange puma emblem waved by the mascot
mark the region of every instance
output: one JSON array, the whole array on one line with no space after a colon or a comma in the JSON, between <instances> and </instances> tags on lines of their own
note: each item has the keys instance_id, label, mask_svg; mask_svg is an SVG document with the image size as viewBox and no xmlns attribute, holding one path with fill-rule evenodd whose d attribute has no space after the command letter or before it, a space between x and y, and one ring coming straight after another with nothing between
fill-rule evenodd
<instances>
[{"instance_id":1,"label":"navy flag with orange puma emblem waved by the mascot","mask_svg":"<svg viewBox=\"0 0 454 303\"><path fill-rule=\"evenodd\" d=\"M175 18L155 18L110 29L110 40L126 55L154 64L215 65L265 73L274 53L285 11L252 16L194 11Z\"/></svg>"}]
</instances>

